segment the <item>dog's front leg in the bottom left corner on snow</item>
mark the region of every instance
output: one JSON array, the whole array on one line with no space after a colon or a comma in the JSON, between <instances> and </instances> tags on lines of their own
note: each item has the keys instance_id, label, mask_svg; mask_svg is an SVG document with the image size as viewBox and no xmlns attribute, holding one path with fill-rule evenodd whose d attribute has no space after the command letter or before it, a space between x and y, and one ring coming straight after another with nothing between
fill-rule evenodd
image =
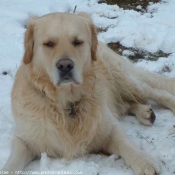
<instances>
[{"instance_id":1,"label":"dog's front leg in the bottom left corner on snow","mask_svg":"<svg viewBox=\"0 0 175 175\"><path fill-rule=\"evenodd\" d=\"M10 174L15 174L15 171L21 171L24 167L34 159L27 145L17 136L13 136L12 151L7 163L2 171L9 171Z\"/></svg>"}]
</instances>

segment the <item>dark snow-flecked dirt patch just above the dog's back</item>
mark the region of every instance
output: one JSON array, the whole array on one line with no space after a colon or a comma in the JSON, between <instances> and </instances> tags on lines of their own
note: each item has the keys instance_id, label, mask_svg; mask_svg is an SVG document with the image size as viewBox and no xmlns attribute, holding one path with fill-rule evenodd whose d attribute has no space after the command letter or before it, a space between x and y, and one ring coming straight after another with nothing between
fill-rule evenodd
<instances>
[{"instance_id":1,"label":"dark snow-flecked dirt patch just above the dog's back","mask_svg":"<svg viewBox=\"0 0 175 175\"><path fill-rule=\"evenodd\" d=\"M140 59L156 61L160 57L168 57L170 55L170 53L164 53L162 51L158 51L156 53L150 53L148 51L132 47L127 48L122 46L119 42L109 43L108 46L119 55L127 56L133 62L137 62Z\"/></svg>"}]
</instances>

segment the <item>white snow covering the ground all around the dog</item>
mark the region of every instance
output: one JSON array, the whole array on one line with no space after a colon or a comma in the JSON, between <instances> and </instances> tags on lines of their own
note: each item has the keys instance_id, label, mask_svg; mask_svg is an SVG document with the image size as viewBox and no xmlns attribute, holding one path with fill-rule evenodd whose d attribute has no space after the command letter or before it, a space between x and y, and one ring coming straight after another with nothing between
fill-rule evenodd
<instances>
[{"instance_id":1,"label":"white snow covering the ground all around the dog","mask_svg":"<svg viewBox=\"0 0 175 175\"><path fill-rule=\"evenodd\" d=\"M10 139L14 122L10 107L10 93L15 73L23 55L23 34L30 15L51 12L87 12L97 27L108 28L98 35L105 43L120 42L123 46L159 50L171 53L158 61L140 61L138 66L175 77L175 0L150 3L147 13L123 10L117 5L98 4L97 0L0 0L0 169L10 154ZM110 19L111 18L111 19ZM129 53L125 51L125 53ZM168 66L168 72L164 71ZM5 75L7 73L7 75ZM122 125L135 144L153 155L159 162L162 175L175 174L175 116L157 106L155 124L146 127L133 118L125 117ZM63 171L83 175L133 175L123 159L116 155L87 155L70 162L48 159L29 164L25 170Z\"/></svg>"}]
</instances>

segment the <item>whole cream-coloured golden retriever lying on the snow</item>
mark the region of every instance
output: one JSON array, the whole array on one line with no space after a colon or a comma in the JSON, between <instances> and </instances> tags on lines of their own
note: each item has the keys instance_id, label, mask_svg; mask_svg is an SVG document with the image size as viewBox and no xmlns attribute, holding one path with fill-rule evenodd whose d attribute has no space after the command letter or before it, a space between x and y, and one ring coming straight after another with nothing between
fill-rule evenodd
<instances>
[{"instance_id":1,"label":"whole cream-coloured golden retriever lying on the snow","mask_svg":"<svg viewBox=\"0 0 175 175\"><path fill-rule=\"evenodd\" d=\"M43 152L72 159L104 151L121 156L136 175L158 174L155 160L132 143L118 119L133 113L152 125L148 99L175 113L174 82L98 42L87 14L31 18L12 90L15 131L3 170L23 170Z\"/></svg>"}]
</instances>

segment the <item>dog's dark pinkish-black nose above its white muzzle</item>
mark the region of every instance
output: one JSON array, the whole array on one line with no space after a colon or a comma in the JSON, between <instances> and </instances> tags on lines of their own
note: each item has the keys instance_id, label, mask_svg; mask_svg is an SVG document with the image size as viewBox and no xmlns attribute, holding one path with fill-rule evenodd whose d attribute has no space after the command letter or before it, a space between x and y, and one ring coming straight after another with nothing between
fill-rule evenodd
<instances>
[{"instance_id":1,"label":"dog's dark pinkish-black nose above its white muzzle","mask_svg":"<svg viewBox=\"0 0 175 175\"><path fill-rule=\"evenodd\" d=\"M68 73L74 68L74 63L69 58L62 58L61 60L58 61L56 67L61 72Z\"/></svg>"}]
</instances>

